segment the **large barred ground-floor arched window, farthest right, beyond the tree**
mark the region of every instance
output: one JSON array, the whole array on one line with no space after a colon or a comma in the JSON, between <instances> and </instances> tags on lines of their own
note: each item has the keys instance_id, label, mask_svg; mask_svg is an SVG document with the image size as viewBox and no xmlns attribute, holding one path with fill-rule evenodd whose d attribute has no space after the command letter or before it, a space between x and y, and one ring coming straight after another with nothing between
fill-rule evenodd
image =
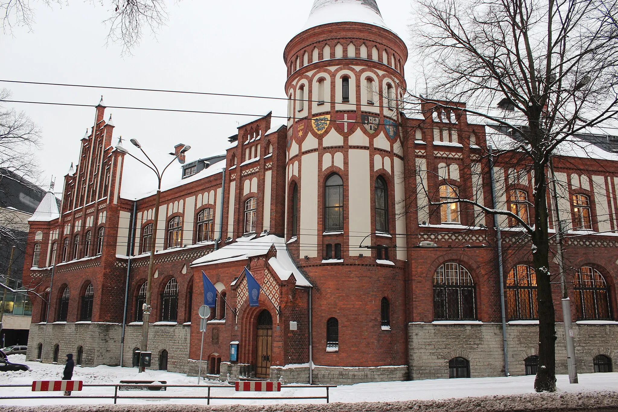
<instances>
[{"instance_id":1,"label":"large barred ground-floor arched window, farthest right, beyond the tree","mask_svg":"<svg viewBox=\"0 0 618 412\"><path fill-rule=\"evenodd\" d=\"M582 267L573 280L578 321L611 320L609 287L593 267Z\"/></svg>"}]
</instances>

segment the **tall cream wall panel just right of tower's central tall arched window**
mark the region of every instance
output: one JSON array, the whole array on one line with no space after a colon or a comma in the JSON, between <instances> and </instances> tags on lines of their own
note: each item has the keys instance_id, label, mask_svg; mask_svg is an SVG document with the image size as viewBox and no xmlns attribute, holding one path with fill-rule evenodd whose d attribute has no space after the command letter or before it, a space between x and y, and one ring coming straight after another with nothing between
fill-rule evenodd
<instances>
[{"instance_id":1,"label":"tall cream wall panel just right of tower's central tall arched window","mask_svg":"<svg viewBox=\"0 0 618 412\"><path fill-rule=\"evenodd\" d=\"M350 256L358 256L366 251L358 246L371 245L371 184L369 170L369 151L350 149L348 153L349 238ZM363 241L363 238L366 239ZM361 245L361 242L362 245Z\"/></svg>"}]
</instances>

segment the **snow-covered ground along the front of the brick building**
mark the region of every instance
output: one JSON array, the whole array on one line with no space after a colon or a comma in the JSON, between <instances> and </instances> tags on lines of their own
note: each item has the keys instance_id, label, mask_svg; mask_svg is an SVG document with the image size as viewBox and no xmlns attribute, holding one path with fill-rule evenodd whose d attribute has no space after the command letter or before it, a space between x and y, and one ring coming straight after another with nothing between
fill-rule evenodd
<instances>
[{"instance_id":1,"label":"snow-covered ground along the front of the brick building","mask_svg":"<svg viewBox=\"0 0 618 412\"><path fill-rule=\"evenodd\" d=\"M16 363L26 363L30 366L28 372L0 372L0 385L31 385L33 380L60 380L64 365L25 362L24 355L10 355L9 359ZM119 368L111 366L97 366L96 368L76 367L74 380L83 380L84 384L116 384L120 380L166 380L171 385L195 385L197 377L187 377L184 374L172 372L147 371L137 376L136 368ZM580 384L569 384L568 376L558 376L558 392L595 392L618 390L618 373L580 374ZM472 379L432 379L413 380L409 382L379 382L339 386L330 390L331 402L392 402L407 400L437 400L447 398L481 397L486 395L519 395L534 393L533 376L518 377L490 377ZM221 385L221 382L203 381L202 385ZM226 388L211 389L211 396L323 396L325 389L321 388L294 388L284 389L281 393L237 393L231 385ZM113 395L113 388L84 388L74 395ZM30 388L15 388L10 392L6 388L0 389L2 396L33 395ZM61 395L59 392L39 392L36 395ZM206 389L168 388L166 392L119 392L124 396L205 396ZM59 400L0 400L0 405L56 405L83 404L83 403L111 403L112 400L63 398ZM205 400L121 400L119 403L139 403L142 405L156 405L157 403L205 404ZM211 405L231 403L245 403L260 405L268 403L324 403L324 400L211 400Z\"/></svg>"}]
</instances>

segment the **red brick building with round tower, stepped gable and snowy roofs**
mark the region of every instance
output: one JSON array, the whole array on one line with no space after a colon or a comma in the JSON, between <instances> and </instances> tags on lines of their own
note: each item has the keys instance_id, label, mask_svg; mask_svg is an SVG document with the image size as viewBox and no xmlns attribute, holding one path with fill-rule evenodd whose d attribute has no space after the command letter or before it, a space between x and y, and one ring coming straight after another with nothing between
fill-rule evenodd
<instances>
[{"instance_id":1,"label":"red brick building with round tower, stepped gable and snowy roofs","mask_svg":"<svg viewBox=\"0 0 618 412\"><path fill-rule=\"evenodd\" d=\"M452 198L453 190L485 206L495 198L531 221L531 175L517 153L503 155L492 185L486 154L497 132L468 119L465 104L400 106L407 57L375 1L316 0L284 51L287 124L271 124L271 114L253 120L210 157L184 159L177 145L184 163L166 171L156 231L155 191L144 193L146 179L137 179L151 172L124 152L147 161L112 136L101 102L65 178L61 209L44 202L49 207L30 222L27 261L37 247L46 264L27 264L25 278L50 304L47 311L33 298L28 359L57 361L72 351L78 364L132 366L155 242L152 368L197 373L204 271L219 292L205 368L221 379L504 374L493 217L430 199ZM604 371L618 358L618 158L607 140L579 143L590 146L585 154L566 145L554 161L558 208L568 225L578 367ZM153 158L158 166L173 159ZM538 321L530 245L515 222L500 218L498 227L509 372L531 373ZM249 305L244 267L261 285L258 307ZM559 296L556 284L557 321Z\"/></svg>"}]
</instances>

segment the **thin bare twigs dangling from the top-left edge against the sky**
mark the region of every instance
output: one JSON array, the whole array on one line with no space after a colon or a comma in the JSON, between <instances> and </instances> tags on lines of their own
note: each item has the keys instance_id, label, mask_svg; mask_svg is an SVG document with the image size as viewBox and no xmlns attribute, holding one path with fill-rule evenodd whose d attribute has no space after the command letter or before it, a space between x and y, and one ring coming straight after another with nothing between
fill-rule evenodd
<instances>
[{"instance_id":1,"label":"thin bare twigs dangling from the top-left edge against the sky","mask_svg":"<svg viewBox=\"0 0 618 412\"><path fill-rule=\"evenodd\" d=\"M122 44L123 53L138 46L145 30L156 33L167 21L165 0L85 0L109 7L111 14L104 20L109 27L108 41ZM3 12L2 28L12 32L15 26L32 28L35 11L32 4L53 7L62 0L0 0ZM31 4L32 3L32 4Z\"/></svg>"}]
</instances>

